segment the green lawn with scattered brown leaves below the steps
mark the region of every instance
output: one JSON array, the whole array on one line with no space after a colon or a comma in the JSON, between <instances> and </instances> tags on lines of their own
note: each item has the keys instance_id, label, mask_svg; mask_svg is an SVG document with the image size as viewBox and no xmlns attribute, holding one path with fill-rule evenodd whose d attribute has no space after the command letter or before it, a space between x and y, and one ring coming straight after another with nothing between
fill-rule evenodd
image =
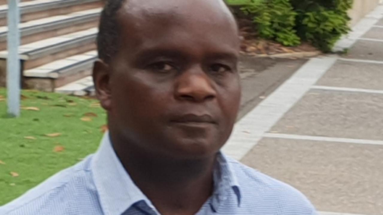
<instances>
[{"instance_id":1,"label":"green lawn with scattered brown leaves below the steps","mask_svg":"<svg viewBox=\"0 0 383 215\"><path fill-rule=\"evenodd\" d=\"M106 123L97 100L36 91L23 91L21 117L9 118L5 94L0 88L0 205L95 152Z\"/></svg>"}]
</instances>

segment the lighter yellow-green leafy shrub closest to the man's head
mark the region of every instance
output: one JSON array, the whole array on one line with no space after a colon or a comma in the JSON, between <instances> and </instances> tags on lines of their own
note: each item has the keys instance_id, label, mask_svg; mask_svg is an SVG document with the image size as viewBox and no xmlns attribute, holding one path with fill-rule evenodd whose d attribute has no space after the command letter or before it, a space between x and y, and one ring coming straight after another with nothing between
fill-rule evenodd
<instances>
[{"instance_id":1,"label":"lighter yellow-green leafy shrub closest to the man's head","mask_svg":"<svg viewBox=\"0 0 383 215\"><path fill-rule=\"evenodd\" d=\"M253 16L262 38L274 39L285 46L300 44L294 29L297 13L293 9L289 0L251 0L242 7L246 15Z\"/></svg>"}]
</instances>

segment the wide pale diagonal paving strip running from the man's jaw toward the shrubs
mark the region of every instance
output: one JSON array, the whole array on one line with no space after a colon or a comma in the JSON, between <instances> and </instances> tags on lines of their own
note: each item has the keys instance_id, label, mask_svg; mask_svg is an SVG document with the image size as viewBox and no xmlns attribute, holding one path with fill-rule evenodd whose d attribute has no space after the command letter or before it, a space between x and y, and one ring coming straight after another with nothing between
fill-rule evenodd
<instances>
[{"instance_id":1,"label":"wide pale diagonal paving strip running from the man's jaw toward the shrubs","mask_svg":"<svg viewBox=\"0 0 383 215\"><path fill-rule=\"evenodd\" d=\"M290 79L236 123L231 138L223 147L224 153L238 160L243 158L336 60L337 57L334 56L321 57L304 64Z\"/></svg>"}]
</instances>

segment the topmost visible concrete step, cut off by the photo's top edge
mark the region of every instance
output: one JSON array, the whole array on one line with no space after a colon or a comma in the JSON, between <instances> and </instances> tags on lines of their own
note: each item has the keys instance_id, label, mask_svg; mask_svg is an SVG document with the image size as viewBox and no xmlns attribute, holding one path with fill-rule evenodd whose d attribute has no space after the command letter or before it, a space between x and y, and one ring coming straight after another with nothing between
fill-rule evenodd
<instances>
[{"instance_id":1,"label":"topmost visible concrete step, cut off by the photo's top edge","mask_svg":"<svg viewBox=\"0 0 383 215\"><path fill-rule=\"evenodd\" d=\"M102 7L100 0L34 0L20 3L21 22ZM7 25L8 5L0 5L0 26Z\"/></svg>"}]
</instances>

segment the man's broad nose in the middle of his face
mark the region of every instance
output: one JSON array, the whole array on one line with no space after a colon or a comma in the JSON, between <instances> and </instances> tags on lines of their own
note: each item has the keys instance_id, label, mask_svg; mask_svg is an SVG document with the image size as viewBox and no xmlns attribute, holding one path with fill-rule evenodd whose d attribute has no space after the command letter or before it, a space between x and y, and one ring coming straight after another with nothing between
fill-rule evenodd
<instances>
[{"instance_id":1,"label":"man's broad nose in the middle of his face","mask_svg":"<svg viewBox=\"0 0 383 215\"><path fill-rule=\"evenodd\" d=\"M201 69L191 69L179 77L175 89L177 100L205 102L216 98L210 77Z\"/></svg>"}]
</instances>

